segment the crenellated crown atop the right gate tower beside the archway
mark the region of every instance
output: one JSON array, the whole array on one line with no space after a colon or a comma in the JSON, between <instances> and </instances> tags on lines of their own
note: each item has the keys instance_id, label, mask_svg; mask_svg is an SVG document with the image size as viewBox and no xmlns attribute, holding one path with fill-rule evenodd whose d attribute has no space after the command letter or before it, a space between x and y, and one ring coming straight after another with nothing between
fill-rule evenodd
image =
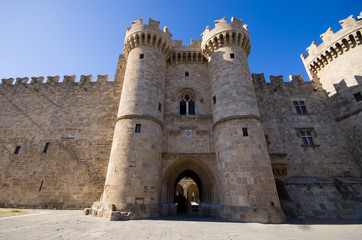
<instances>
[{"instance_id":1,"label":"crenellated crown atop the right gate tower beside the archway","mask_svg":"<svg viewBox=\"0 0 362 240\"><path fill-rule=\"evenodd\" d=\"M227 23L226 18L214 22L214 29L210 30L210 27L207 26L201 34L201 48L206 58L209 58L210 54L220 47L228 45L238 45L244 48L246 54L249 55L251 45L248 25L243 25L243 20L232 17L231 23Z\"/></svg>"}]
</instances>

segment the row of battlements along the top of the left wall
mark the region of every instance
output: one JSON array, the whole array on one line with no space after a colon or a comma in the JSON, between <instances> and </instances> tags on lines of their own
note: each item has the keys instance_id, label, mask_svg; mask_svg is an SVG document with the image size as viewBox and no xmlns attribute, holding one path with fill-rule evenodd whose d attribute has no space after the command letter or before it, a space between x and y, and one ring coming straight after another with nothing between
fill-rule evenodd
<instances>
[{"instance_id":1,"label":"row of battlements along the top of the left wall","mask_svg":"<svg viewBox=\"0 0 362 240\"><path fill-rule=\"evenodd\" d=\"M29 81L30 79L30 81ZM39 84L77 84L77 85L83 85L86 83L91 83L93 79L93 75L81 75L80 76L80 80L77 82L76 81L76 76L75 75L64 75L63 76L63 81L59 82L60 80L60 76L48 76L45 80L45 77L41 76L41 77L23 77L23 78L16 78L16 80L14 81L14 78L3 78L1 79L1 84L0 86L16 86L16 85L39 85ZM45 80L45 81L44 81ZM92 83L107 83L110 82L109 81L109 75L97 75L97 81L92 82Z\"/></svg>"}]
</instances>

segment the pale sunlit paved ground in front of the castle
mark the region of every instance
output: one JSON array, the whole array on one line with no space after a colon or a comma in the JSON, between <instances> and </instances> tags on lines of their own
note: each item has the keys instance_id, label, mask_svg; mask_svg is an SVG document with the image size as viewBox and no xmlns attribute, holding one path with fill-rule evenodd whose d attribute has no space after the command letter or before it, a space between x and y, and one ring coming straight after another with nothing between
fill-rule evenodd
<instances>
[{"instance_id":1,"label":"pale sunlit paved ground in front of the castle","mask_svg":"<svg viewBox=\"0 0 362 240\"><path fill-rule=\"evenodd\" d=\"M217 218L167 217L109 222L79 210L0 215L0 239L328 239L361 240L359 222L259 224Z\"/></svg>"}]
</instances>

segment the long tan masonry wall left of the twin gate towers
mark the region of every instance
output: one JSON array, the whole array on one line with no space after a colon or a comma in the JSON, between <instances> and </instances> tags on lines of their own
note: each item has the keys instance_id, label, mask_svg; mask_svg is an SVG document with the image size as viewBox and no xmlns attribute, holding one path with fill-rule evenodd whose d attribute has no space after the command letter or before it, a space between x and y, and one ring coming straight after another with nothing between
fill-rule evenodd
<instances>
[{"instance_id":1,"label":"long tan masonry wall left of the twin gate towers","mask_svg":"<svg viewBox=\"0 0 362 240\"><path fill-rule=\"evenodd\" d=\"M102 194L121 94L108 76L3 80L0 206L81 209ZM74 138L66 136L75 132ZM73 132L73 133L74 133ZM68 132L69 133L69 132ZM72 133L72 132L71 132ZM46 143L49 147L46 152ZM15 154L16 147L20 151Z\"/></svg>"}]
</instances>

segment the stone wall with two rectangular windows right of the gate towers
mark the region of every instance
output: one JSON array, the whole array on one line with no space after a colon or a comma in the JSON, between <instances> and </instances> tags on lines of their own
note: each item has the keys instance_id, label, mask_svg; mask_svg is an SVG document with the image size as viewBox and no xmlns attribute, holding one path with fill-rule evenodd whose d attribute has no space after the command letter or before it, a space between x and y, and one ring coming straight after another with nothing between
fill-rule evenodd
<instances>
[{"instance_id":1,"label":"stone wall with two rectangular windows right of the gate towers","mask_svg":"<svg viewBox=\"0 0 362 240\"><path fill-rule=\"evenodd\" d=\"M347 148L323 88L304 82L301 76L292 76L288 83L281 76L270 80L266 83L262 74L253 74L269 153L283 156L287 176L359 177L361 169ZM307 113L297 114L293 101L304 101ZM300 129L311 130L313 146L302 145Z\"/></svg>"}]
</instances>

